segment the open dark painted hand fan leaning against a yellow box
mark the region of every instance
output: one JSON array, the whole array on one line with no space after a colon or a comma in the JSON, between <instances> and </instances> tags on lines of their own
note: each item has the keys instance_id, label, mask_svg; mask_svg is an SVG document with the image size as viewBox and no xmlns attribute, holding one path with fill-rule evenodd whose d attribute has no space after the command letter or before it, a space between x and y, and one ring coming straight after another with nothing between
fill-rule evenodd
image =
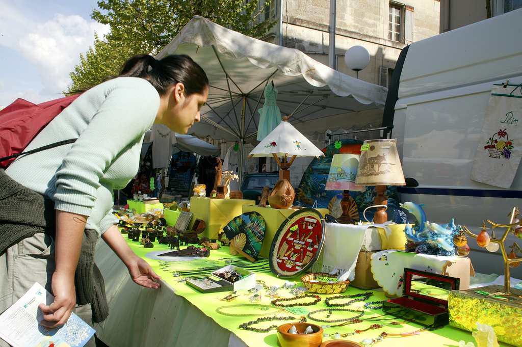
<instances>
[{"instance_id":1,"label":"open dark painted hand fan leaning against a yellow box","mask_svg":"<svg viewBox=\"0 0 522 347\"><path fill-rule=\"evenodd\" d=\"M248 260L255 261L263 246L266 222L257 212L246 212L235 217L223 227L230 240L230 254L240 254Z\"/></svg>"}]
</instances>

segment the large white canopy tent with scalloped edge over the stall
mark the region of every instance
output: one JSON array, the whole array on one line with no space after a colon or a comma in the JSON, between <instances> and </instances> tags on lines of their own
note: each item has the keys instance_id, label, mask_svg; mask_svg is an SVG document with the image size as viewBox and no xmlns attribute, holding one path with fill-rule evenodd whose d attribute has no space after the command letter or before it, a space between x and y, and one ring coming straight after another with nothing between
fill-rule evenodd
<instances>
[{"instance_id":1,"label":"large white canopy tent with scalloped edge over the stall","mask_svg":"<svg viewBox=\"0 0 522 347\"><path fill-rule=\"evenodd\" d=\"M384 106L387 89L339 73L301 51L247 37L206 18L195 16L157 55L191 56L210 81L209 99L201 123L191 128L198 136L255 140L263 90L273 81L279 90L282 115L302 132L311 124L319 130L348 128L367 111ZM320 119L320 120L319 120ZM243 167L240 163L240 182Z\"/></svg>"}]
</instances>

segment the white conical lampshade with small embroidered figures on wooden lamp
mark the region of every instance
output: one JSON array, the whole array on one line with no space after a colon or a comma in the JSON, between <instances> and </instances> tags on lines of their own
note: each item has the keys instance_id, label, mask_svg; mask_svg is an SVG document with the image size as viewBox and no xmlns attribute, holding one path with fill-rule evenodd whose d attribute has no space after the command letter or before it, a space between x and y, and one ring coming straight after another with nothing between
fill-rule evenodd
<instances>
[{"instance_id":1,"label":"white conical lampshade with small embroidered figures on wooden lamp","mask_svg":"<svg viewBox=\"0 0 522 347\"><path fill-rule=\"evenodd\" d=\"M288 122L281 122L257 145L252 157L322 157L324 153Z\"/></svg>"}]
</instances>

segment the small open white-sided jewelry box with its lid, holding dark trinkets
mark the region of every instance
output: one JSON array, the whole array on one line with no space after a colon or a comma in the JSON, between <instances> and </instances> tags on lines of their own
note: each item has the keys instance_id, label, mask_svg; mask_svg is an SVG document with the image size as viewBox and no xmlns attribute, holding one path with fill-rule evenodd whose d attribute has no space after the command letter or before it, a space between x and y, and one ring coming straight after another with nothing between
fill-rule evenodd
<instances>
[{"instance_id":1,"label":"small open white-sided jewelry box with its lid, holding dark trinkets","mask_svg":"<svg viewBox=\"0 0 522 347\"><path fill-rule=\"evenodd\" d=\"M235 270L243 275L243 278L235 281L234 283L229 282L221 277L217 276L216 273ZM210 285L205 283L205 280L209 281ZM227 265L219 270L212 272L212 274L201 280L186 280L185 283L192 288L196 289L201 293L217 293L217 292L231 292L236 290L248 290L256 286L256 274L234 265Z\"/></svg>"}]
</instances>

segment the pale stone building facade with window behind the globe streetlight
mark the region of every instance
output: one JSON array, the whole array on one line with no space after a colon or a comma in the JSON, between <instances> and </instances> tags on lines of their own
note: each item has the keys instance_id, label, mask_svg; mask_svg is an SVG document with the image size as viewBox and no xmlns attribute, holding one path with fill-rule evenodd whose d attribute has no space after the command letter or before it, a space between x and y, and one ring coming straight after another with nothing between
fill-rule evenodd
<instances>
[{"instance_id":1,"label":"pale stone building facade with window behind the globe streetlight","mask_svg":"<svg viewBox=\"0 0 522 347\"><path fill-rule=\"evenodd\" d=\"M260 0L254 20L277 22L266 41L298 49L328 64L329 3ZM337 70L355 77L343 56L351 46L361 45L370 52L371 60L359 78L387 86L402 48L440 32L440 1L337 0L336 21Z\"/></svg>"}]
</instances>

